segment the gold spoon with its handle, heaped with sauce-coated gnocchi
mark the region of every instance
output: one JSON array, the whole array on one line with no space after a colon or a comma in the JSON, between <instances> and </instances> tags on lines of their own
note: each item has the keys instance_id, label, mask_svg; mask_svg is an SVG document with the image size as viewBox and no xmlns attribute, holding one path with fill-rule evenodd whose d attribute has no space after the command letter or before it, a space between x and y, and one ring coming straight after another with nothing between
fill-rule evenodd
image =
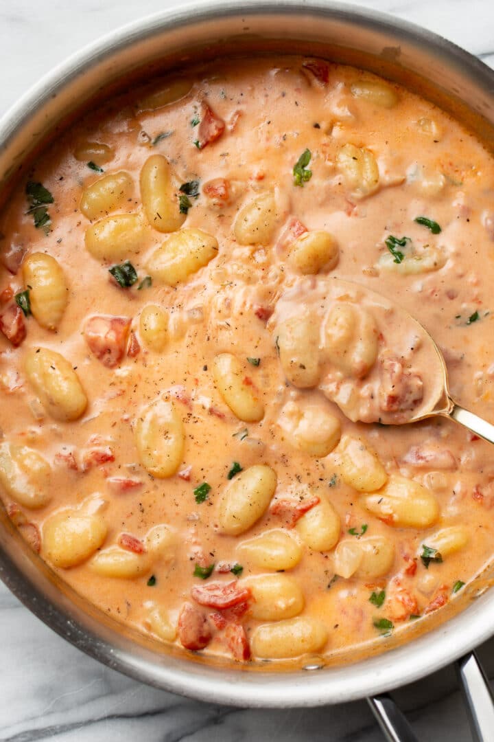
<instances>
[{"instance_id":1,"label":"gold spoon with its handle, heaped with sauce-coated gnocchi","mask_svg":"<svg viewBox=\"0 0 494 742\"><path fill-rule=\"evenodd\" d=\"M364 286L298 281L276 304L270 329L288 381L318 388L351 421L401 425L442 415L494 443L494 425L451 398L427 330Z\"/></svg>"}]
</instances>

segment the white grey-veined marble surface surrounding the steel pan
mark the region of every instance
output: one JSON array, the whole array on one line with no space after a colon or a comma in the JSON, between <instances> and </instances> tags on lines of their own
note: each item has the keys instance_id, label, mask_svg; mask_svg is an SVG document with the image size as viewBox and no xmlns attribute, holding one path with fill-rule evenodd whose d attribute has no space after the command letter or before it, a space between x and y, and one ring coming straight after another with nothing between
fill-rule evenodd
<instances>
[{"instance_id":1,"label":"white grey-veined marble surface surrounding the steel pan","mask_svg":"<svg viewBox=\"0 0 494 742\"><path fill-rule=\"evenodd\" d=\"M177 0L178 1L178 0ZM0 0L0 114L87 42L173 0ZM493 0L361 0L441 33L494 67ZM481 648L494 676L494 640ZM424 741L470 740L452 668L396 692ZM0 585L0 739L28 742L378 742L364 702L230 709L157 691L53 634Z\"/></svg>"}]
</instances>

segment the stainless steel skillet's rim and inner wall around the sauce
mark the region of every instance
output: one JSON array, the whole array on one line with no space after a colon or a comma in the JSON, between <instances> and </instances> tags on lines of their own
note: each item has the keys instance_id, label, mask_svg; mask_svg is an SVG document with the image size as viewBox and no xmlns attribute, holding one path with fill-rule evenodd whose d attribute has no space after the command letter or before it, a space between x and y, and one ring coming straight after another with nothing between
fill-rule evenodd
<instances>
[{"instance_id":1,"label":"stainless steel skillet's rim and inner wall around the sauce","mask_svg":"<svg viewBox=\"0 0 494 742\"><path fill-rule=\"evenodd\" d=\"M84 101L144 65L256 48L286 47L347 61L418 86L494 143L494 73L424 30L347 5L309 0L210 2L182 6L119 30L46 76L0 122L0 178L6 179ZM455 100L452 104L452 98ZM345 667L290 674L242 672L193 662L122 629L88 606L33 556L0 513L0 575L41 620L122 672L185 695L242 706L316 706L373 696L433 672L493 633L490 575L461 614L413 642ZM472 596L475 591L472 591Z\"/></svg>"}]
</instances>

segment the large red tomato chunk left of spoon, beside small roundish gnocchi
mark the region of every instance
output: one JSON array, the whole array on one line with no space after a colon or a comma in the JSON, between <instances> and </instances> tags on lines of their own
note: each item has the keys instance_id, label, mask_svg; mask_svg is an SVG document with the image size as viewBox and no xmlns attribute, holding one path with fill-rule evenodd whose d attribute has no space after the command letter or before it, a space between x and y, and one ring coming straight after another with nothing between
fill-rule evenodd
<instances>
[{"instance_id":1,"label":"large red tomato chunk left of spoon, beside small roundish gnocchi","mask_svg":"<svg viewBox=\"0 0 494 742\"><path fill-rule=\"evenodd\" d=\"M124 358L130 318L94 315L84 327L84 338L101 363L113 369Z\"/></svg>"}]
</instances>

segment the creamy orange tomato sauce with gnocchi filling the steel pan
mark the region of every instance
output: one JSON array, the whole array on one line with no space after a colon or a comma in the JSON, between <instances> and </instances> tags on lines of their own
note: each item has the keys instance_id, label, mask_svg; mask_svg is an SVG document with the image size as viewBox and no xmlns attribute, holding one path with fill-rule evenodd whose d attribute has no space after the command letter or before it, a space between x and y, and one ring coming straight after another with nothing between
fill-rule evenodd
<instances>
[{"instance_id":1,"label":"creamy orange tomato sauce with gnocchi filling the steel pan","mask_svg":"<svg viewBox=\"0 0 494 742\"><path fill-rule=\"evenodd\" d=\"M494 421L493 197L458 122L318 59L87 114L1 215L0 488L32 548L157 648L343 661L425 630L492 558L493 453L383 424L437 381L386 300Z\"/></svg>"}]
</instances>

